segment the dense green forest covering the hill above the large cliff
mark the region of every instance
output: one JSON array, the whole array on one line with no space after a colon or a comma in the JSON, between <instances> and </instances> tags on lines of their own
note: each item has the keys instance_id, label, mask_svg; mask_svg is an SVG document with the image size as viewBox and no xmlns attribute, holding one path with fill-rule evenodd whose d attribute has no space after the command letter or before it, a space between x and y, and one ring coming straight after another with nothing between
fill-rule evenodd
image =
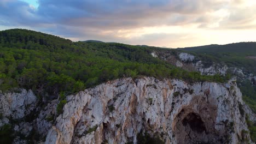
<instances>
[{"instance_id":1,"label":"dense green forest covering the hill above the large cliff","mask_svg":"<svg viewBox=\"0 0 256 144\"><path fill-rule=\"evenodd\" d=\"M152 57L154 49L93 41L74 43L26 29L1 31L0 89L23 87L33 89L39 97L53 99L60 92L70 94L120 77L146 75L188 82L225 82L230 78L176 68Z\"/></svg>"}]
</instances>

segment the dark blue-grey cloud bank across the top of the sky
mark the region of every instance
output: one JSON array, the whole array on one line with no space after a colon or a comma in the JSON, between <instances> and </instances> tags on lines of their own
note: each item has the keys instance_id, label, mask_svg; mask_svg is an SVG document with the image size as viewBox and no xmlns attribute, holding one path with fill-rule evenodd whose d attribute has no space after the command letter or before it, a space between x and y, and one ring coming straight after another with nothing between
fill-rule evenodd
<instances>
[{"instance_id":1,"label":"dark blue-grey cloud bank across the top of the sky","mask_svg":"<svg viewBox=\"0 0 256 144\"><path fill-rule=\"evenodd\" d=\"M52 1L39 0L37 10L21 1L5 1L0 5L1 17L13 25L57 23L86 27L133 27L147 20L159 20L174 14L199 14L216 10L223 3L214 1ZM212 5L210 8L206 5ZM182 19L182 18L179 18ZM10 25L11 25L10 23ZM147 26L150 26L148 23Z\"/></svg>"}]
</instances>

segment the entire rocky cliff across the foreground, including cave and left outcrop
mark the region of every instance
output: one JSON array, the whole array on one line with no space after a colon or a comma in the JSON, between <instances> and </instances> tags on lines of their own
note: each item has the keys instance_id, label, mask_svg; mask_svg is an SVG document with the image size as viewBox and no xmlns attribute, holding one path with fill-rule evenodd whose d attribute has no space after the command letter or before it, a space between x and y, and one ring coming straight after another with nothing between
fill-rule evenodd
<instances>
[{"instance_id":1,"label":"entire rocky cliff across the foreground, including cave and left outcrop","mask_svg":"<svg viewBox=\"0 0 256 144\"><path fill-rule=\"evenodd\" d=\"M0 99L0 124L22 134L14 143L27 143L35 134L37 143L253 143L245 117L256 117L235 81L118 79L69 95L59 116L57 100L34 107L32 91ZM37 115L27 121L32 111Z\"/></svg>"}]
</instances>

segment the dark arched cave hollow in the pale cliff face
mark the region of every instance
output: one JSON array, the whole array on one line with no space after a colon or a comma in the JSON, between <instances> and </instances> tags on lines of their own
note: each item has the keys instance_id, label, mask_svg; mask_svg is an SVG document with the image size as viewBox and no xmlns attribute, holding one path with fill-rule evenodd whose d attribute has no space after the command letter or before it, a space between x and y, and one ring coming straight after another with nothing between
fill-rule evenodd
<instances>
[{"instance_id":1,"label":"dark arched cave hollow in the pale cliff face","mask_svg":"<svg viewBox=\"0 0 256 144\"><path fill-rule=\"evenodd\" d=\"M214 121L202 116L205 115L191 110L179 112L173 129L177 143L222 143L223 138L217 134Z\"/></svg>"}]
</instances>

